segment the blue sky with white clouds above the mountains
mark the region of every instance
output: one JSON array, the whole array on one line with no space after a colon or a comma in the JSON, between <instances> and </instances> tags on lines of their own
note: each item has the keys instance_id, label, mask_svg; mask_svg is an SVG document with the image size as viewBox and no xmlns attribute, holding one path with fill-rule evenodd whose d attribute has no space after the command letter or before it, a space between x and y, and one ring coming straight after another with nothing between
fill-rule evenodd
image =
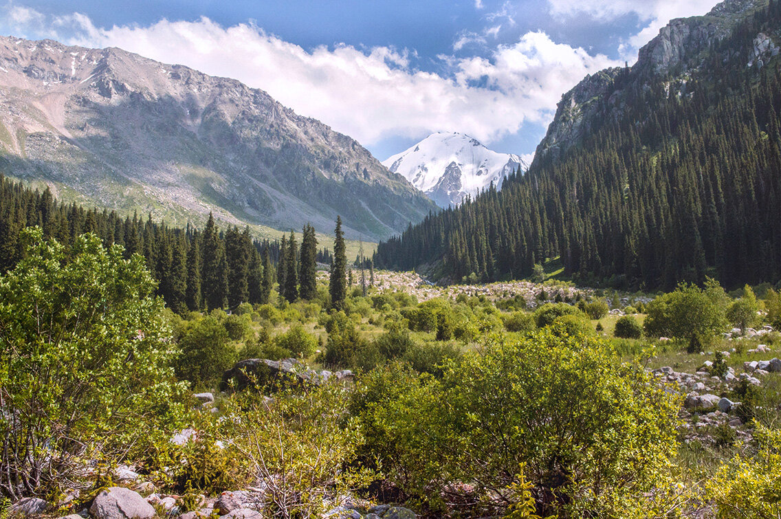
<instances>
[{"instance_id":1,"label":"blue sky with white clouds above the mountains","mask_svg":"<svg viewBox=\"0 0 781 519\"><path fill-rule=\"evenodd\" d=\"M0 0L2 2L3 0ZM562 94L717 0L12 0L0 34L261 88L380 160L437 131L527 160Z\"/></svg>"}]
</instances>

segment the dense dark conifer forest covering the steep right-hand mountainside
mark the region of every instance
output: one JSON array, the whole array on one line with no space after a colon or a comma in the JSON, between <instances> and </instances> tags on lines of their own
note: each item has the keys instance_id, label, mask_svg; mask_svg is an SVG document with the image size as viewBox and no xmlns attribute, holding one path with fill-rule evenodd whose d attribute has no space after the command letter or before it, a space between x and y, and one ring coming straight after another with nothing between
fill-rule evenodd
<instances>
[{"instance_id":1,"label":"dense dark conifer forest covering the steep right-hand mountainside","mask_svg":"<svg viewBox=\"0 0 781 519\"><path fill-rule=\"evenodd\" d=\"M778 59L747 67L754 37L779 25L771 2L711 43L680 92L670 88L679 70L612 71L582 142L410 226L380 244L376 263L429 265L456 283L523 278L557 256L580 283L779 279L781 73Z\"/></svg>"}]
</instances>

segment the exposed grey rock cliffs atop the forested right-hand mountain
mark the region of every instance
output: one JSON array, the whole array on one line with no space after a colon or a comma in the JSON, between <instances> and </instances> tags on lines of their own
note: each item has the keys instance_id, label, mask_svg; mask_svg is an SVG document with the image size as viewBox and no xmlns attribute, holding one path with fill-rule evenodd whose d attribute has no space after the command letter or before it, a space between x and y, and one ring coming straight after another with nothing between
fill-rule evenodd
<instances>
[{"instance_id":1,"label":"exposed grey rock cliffs atop the forested right-hand mountain","mask_svg":"<svg viewBox=\"0 0 781 519\"><path fill-rule=\"evenodd\" d=\"M669 96L690 94L686 88L690 72L701 65L711 44L728 37L737 23L766 5L767 0L726 0L706 16L672 20L640 49L631 68L604 69L587 76L558 103L534 162L561 156L580 143L611 114L626 109L627 92L644 90L651 80L665 80ZM778 55L779 50L772 37L758 34L749 66L774 52Z\"/></svg>"}]
</instances>

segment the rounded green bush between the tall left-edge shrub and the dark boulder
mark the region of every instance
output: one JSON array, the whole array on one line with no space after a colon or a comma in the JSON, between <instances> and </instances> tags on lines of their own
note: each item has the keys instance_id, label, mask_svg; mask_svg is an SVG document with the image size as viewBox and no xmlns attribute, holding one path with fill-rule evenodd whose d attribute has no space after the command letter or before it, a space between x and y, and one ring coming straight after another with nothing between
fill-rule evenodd
<instances>
[{"instance_id":1,"label":"rounded green bush between the tall left-edge shrub and the dark boulder","mask_svg":"<svg viewBox=\"0 0 781 519\"><path fill-rule=\"evenodd\" d=\"M179 349L177 375L194 388L215 386L223 372L238 360L225 326L213 315L194 322L179 339Z\"/></svg>"}]
</instances>

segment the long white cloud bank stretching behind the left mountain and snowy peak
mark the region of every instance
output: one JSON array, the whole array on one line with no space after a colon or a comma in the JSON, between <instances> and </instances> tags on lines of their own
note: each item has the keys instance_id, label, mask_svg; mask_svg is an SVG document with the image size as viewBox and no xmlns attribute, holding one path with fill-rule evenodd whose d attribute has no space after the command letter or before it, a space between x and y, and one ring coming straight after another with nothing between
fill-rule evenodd
<instances>
[{"instance_id":1,"label":"long white cloud bank stretching behind the left mountain and snowy peak","mask_svg":"<svg viewBox=\"0 0 781 519\"><path fill-rule=\"evenodd\" d=\"M252 24L222 27L208 18L104 29L74 13L48 20L47 27L49 37L70 44L119 47L234 77L368 145L438 130L490 144L525 121L547 123L562 93L587 73L616 65L542 32L497 46L487 57L439 56L451 71L444 76L412 68L407 51L344 44L305 50Z\"/></svg>"}]
</instances>

